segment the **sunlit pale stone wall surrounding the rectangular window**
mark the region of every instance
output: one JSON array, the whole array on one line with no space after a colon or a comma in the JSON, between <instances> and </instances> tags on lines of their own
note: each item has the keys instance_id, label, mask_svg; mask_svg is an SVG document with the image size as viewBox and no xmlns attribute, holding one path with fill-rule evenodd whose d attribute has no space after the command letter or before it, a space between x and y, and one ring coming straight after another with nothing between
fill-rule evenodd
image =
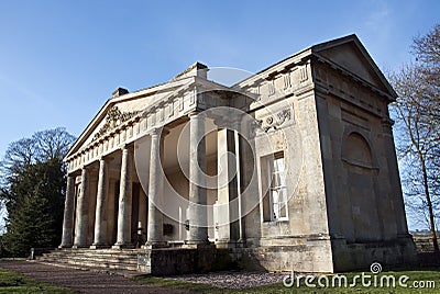
<instances>
[{"instance_id":1,"label":"sunlit pale stone wall surrounding the rectangular window","mask_svg":"<svg viewBox=\"0 0 440 294\"><path fill-rule=\"evenodd\" d=\"M286 80L288 82L286 82ZM267 86L270 84L270 86ZM273 80L251 87L265 108L252 112L264 131L255 134L258 186L244 199L260 197L245 216L246 248L235 249L239 264L268 271L332 272L318 112L310 64L274 75ZM268 215L265 158L283 151L286 165L288 219ZM250 163L253 163L251 160ZM245 167L244 170L252 169ZM254 199L253 199L254 200Z\"/></svg>"}]
</instances>

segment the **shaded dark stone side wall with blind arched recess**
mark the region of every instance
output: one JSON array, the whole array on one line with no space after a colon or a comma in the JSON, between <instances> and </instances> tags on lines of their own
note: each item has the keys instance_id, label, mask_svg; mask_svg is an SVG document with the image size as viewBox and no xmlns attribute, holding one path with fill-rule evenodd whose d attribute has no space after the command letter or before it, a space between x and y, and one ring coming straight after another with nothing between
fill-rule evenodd
<instances>
[{"instance_id":1,"label":"shaded dark stone side wall with blind arched recess","mask_svg":"<svg viewBox=\"0 0 440 294\"><path fill-rule=\"evenodd\" d=\"M315 72L334 270L414 261L388 102L330 66Z\"/></svg>"}]
</instances>

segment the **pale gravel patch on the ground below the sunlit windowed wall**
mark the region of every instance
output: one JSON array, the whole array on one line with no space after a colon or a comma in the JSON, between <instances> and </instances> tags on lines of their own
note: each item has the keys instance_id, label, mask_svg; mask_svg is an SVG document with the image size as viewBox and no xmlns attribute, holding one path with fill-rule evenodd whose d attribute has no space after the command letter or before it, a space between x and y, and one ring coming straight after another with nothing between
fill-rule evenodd
<instances>
[{"instance_id":1,"label":"pale gravel patch on the ground below the sunlit windowed wall","mask_svg":"<svg viewBox=\"0 0 440 294\"><path fill-rule=\"evenodd\" d=\"M264 272L220 272L206 274L186 274L170 276L168 279L187 281L193 283L210 284L217 287L245 289L263 286L283 282L280 273Z\"/></svg>"}]
</instances>

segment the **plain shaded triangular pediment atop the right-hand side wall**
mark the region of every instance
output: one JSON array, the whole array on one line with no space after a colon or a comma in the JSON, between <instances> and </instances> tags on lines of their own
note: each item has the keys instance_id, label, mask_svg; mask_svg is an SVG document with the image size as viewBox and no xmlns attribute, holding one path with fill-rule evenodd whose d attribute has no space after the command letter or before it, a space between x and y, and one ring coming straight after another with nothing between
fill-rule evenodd
<instances>
[{"instance_id":1,"label":"plain shaded triangular pediment atop the right-hand side wall","mask_svg":"<svg viewBox=\"0 0 440 294\"><path fill-rule=\"evenodd\" d=\"M395 98L396 93L355 35L312 47L318 55Z\"/></svg>"}]
</instances>

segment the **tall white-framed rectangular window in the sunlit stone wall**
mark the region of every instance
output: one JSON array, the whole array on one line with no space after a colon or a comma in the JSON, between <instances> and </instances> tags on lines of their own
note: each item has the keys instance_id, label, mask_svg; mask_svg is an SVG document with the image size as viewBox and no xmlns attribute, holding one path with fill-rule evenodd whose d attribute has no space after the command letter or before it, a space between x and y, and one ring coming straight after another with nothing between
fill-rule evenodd
<instances>
[{"instance_id":1,"label":"tall white-framed rectangular window in the sunlit stone wall","mask_svg":"<svg viewBox=\"0 0 440 294\"><path fill-rule=\"evenodd\" d=\"M267 158L267 177L271 220L287 220L287 186L283 152Z\"/></svg>"}]
</instances>

